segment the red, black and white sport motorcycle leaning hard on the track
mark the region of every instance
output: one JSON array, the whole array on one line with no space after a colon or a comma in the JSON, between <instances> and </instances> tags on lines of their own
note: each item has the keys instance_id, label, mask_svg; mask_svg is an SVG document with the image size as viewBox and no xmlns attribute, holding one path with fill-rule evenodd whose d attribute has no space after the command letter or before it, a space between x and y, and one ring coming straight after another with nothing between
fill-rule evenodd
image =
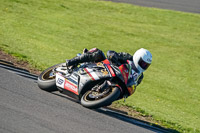
<instances>
[{"instance_id":1,"label":"red, black and white sport motorcycle leaning hard on the track","mask_svg":"<svg viewBox=\"0 0 200 133\"><path fill-rule=\"evenodd\" d=\"M99 108L132 94L133 90L127 87L128 77L127 65L116 66L108 59L73 68L61 63L44 70L38 76L38 86L48 92L66 94L84 107Z\"/></svg>"}]
</instances>

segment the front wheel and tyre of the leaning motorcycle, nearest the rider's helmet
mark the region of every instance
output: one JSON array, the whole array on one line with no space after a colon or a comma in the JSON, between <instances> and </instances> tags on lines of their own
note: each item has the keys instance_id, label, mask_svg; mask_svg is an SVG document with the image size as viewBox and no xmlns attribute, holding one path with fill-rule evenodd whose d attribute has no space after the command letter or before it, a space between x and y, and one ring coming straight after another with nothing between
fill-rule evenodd
<instances>
[{"instance_id":1,"label":"front wheel and tyre of the leaning motorcycle, nearest the rider's helmet","mask_svg":"<svg viewBox=\"0 0 200 133\"><path fill-rule=\"evenodd\" d=\"M94 96L99 95L99 97ZM86 108L99 108L110 105L113 101L117 100L120 96L120 89L118 87L112 87L104 96L98 94L98 92L89 90L81 98L81 104Z\"/></svg>"}]
</instances>

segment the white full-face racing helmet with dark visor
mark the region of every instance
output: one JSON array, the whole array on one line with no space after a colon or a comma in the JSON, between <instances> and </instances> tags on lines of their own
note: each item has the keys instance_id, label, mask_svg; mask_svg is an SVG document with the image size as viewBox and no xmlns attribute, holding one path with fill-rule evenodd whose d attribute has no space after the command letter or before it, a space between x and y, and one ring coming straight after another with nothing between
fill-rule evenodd
<instances>
[{"instance_id":1,"label":"white full-face racing helmet with dark visor","mask_svg":"<svg viewBox=\"0 0 200 133\"><path fill-rule=\"evenodd\" d=\"M133 55L133 63L140 72L144 72L152 62L152 54L144 49L138 49Z\"/></svg>"}]
</instances>

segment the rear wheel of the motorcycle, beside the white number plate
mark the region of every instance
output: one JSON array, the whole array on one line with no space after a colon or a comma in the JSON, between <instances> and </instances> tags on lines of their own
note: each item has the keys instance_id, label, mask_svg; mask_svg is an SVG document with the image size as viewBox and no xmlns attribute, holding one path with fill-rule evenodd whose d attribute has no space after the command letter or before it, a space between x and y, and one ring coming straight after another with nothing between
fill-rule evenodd
<instances>
[{"instance_id":1,"label":"rear wheel of the motorcycle, beside the white number plate","mask_svg":"<svg viewBox=\"0 0 200 133\"><path fill-rule=\"evenodd\" d=\"M56 87L56 73L54 69L63 65L64 63L54 65L52 67L47 68L38 76L38 86L40 89L48 92L57 91Z\"/></svg>"}]
</instances>

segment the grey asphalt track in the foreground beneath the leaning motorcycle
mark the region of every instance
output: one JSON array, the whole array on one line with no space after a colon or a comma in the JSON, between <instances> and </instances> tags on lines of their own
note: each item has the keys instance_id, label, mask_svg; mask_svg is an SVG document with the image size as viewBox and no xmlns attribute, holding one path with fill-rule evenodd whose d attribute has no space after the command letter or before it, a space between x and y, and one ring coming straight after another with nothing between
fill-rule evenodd
<instances>
[{"instance_id":1,"label":"grey asphalt track in the foreground beneath the leaning motorcycle","mask_svg":"<svg viewBox=\"0 0 200 133\"><path fill-rule=\"evenodd\" d=\"M84 108L59 92L40 90L36 79L0 64L0 133L169 132L106 108Z\"/></svg>"}]
</instances>

